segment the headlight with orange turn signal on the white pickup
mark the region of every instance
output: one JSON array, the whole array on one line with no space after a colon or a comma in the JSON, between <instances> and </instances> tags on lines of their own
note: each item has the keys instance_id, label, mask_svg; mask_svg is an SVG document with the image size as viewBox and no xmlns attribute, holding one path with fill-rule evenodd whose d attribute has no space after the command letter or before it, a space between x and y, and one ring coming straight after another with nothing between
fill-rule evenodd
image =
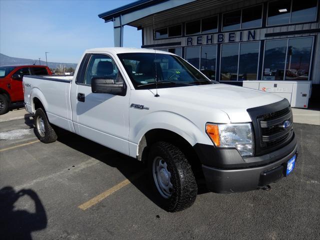
<instances>
[{"instance_id":1,"label":"headlight with orange turn signal on the white pickup","mask_svg":"<svg viewBox=\"0 0 320 240\"><path fill-rule=\"evenodd\" d=\"M250 123L206 123L205 131L215 146L236 148L241 156L253 155L253 136Z\"/></svg>"}]
</instances>

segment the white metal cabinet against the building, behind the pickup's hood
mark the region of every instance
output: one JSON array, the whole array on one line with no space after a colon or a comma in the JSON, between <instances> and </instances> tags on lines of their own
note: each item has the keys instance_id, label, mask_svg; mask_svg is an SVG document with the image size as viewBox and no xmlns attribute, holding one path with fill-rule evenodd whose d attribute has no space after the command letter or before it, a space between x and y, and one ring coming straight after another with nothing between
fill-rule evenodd
<instances>
[{"instance_id":1,"label":"white metal cabinet against the building, behind the pickup's hood","mask_svg":"<svg viewBox=\"0 0 320 240\"><path fill-rule=\"evenodd\" d=\"M311 81L246 80L243 87L267 91L285 97L291 107L307 108Z\"/></svg>"}]
</instances>

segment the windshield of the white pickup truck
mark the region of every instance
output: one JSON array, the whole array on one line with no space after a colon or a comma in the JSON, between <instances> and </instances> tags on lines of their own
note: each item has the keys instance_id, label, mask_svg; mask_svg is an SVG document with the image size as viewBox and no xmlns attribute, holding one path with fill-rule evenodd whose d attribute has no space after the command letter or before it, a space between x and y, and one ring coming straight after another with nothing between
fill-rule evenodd
<instances>
[{"instance_id":1,"label":"windshield of the white pickup truck","mask_svg":"<svg viewBox=\"0 0 320 240\"><path fill-rule=\"evenodd\" d=\"M216 83L181 57L165 53L120 53L126 72L136 89L203 85Z\"/></svg>"}]
</instances>

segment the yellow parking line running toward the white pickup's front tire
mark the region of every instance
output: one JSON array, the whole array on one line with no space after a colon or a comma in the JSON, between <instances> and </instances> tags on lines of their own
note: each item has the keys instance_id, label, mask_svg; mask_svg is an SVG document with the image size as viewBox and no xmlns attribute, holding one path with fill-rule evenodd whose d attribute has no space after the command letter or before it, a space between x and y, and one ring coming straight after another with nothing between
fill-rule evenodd
<instances>
[{"instance_id":1,"label":"yellow parking line running toward the white pickup's front tire","mask_svg":"<svg viewBox=\"0 0 320 240\"><path fill-rule=\"evenodd\" d=\"M96 203L100 202L107 196L111 195L112 193L116 192L117 190L121 189L122 187L126 186L127 184L130 183L130 181L133 181L137 179L139 176L141 176L144 173L144 171L138 172L137 174L133 175L130 180L125 179L121 181L120 183L116 184L115 186L112 186L111 188L107 189L106 191L98 194L97 196L91 198L90 200L82 203L81 205L78 206L78 208L82 210L86 210L87 208L95 205Z\"/></svg>"}]
</instances>

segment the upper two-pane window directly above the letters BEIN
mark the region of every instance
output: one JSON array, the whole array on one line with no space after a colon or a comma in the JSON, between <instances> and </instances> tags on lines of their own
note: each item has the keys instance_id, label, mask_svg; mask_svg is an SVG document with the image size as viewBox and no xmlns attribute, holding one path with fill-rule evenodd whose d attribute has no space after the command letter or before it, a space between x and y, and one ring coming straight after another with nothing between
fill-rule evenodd
<instances>
[{"instance_id":1,"label":"upper two-pane window directly above the letters BEIN","mask_svg":"<svg viewBox=\"0 0 320 240\"><path fill-rule=\"evenodd\" d=\"M260 27L262 23L262 5L223 13L222 18L223 31Z\"/></svg>"}]
</instances>

